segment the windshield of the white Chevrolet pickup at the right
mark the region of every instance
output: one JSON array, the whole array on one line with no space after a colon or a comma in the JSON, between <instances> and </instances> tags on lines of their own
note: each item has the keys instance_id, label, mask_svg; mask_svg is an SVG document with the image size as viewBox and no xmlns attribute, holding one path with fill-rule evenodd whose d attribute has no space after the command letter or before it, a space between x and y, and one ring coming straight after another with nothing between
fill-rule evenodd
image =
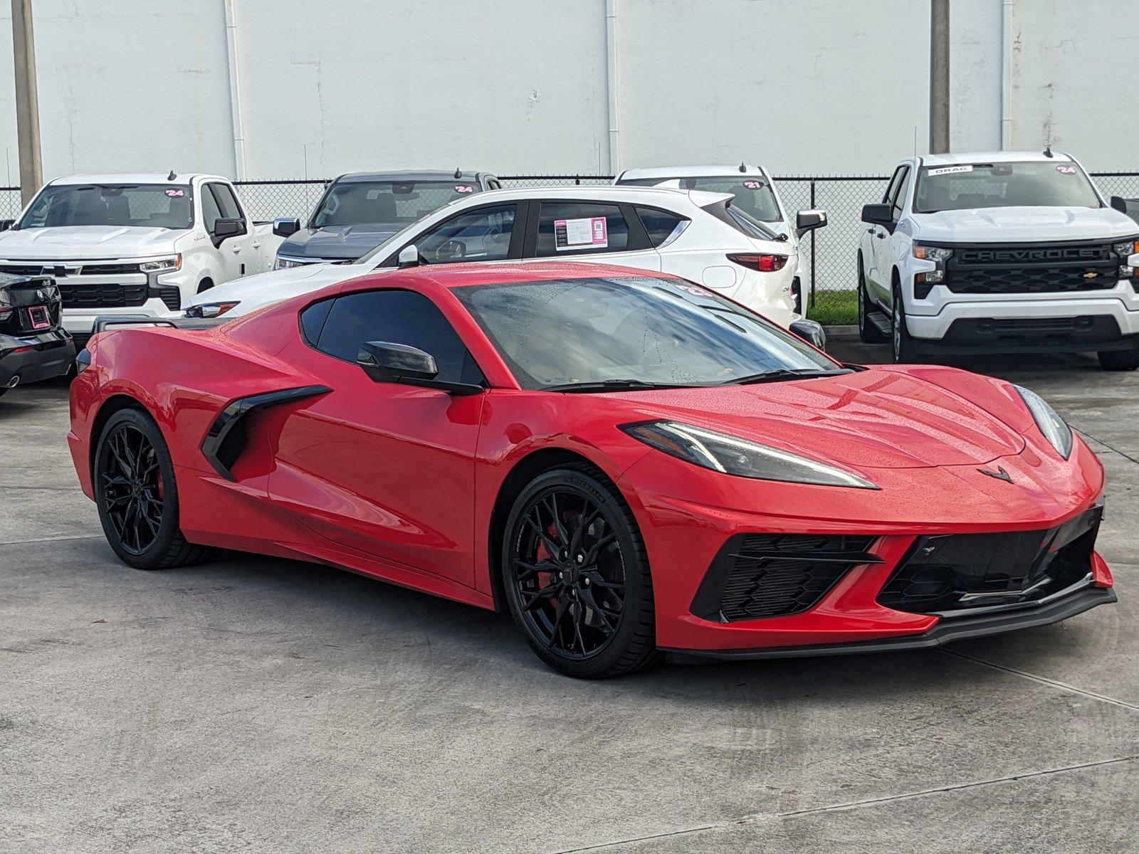
<instances>
[{"instance_id":1,"label":"windshield of the white Chevrolet pickup at the right","mask_svg":"<svg viewBox=\"0 0 1139 854\"><path fill-rule=\"evenodd\" d=\"M1091 181L1072 162L966 163L918 173L916 213L976 207L1099 207Z\"/></svg>"}]
</instances>

